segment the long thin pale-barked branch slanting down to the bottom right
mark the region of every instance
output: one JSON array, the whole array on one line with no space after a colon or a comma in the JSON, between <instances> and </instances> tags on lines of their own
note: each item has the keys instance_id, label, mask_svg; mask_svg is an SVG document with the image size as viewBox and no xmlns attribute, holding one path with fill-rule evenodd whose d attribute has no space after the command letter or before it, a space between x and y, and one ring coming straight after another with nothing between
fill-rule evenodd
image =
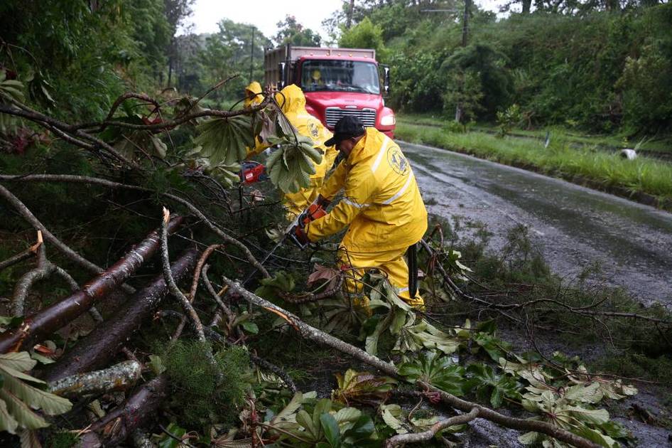
<instances>
[{"instance_id":1,"label":"long thin pale-barked branch slanting down to the bottom right","mask_svg":"<svg viewBox=\"0 0 672 448\"><path fill-rule=\"evenodd\" d=\"M288 323L293 326L293 328L296 329L296 331L298 331L298 333L304 338L310 339L310 341L317 342L325 346L329 346L331 348L335 348L342 353L369 364L369 366L373 366L374 368L381 370L387 375L403 380L403 377L399 375L399 370L397 370L397 368L391 363L386 363L380 358L370 355L361 348L352 346L347 342L341 341L339 338L335 338L334 336L321 331L320 329L316 329L314 326L306 324L304 321L299 319L298 316L295 316L289 311L282 309L280 306L272 304L268 300L262 299L256 294L249 292L247 289L244 289L244 287L242 287L239 282L233 282L232 280L224 277L224 283L229 285L229 288L233 293L239 294L247 302L261 306L273 314L282 316L283 319L288 321ZM561 442L572 444L575 447L597 448L600 446L594 442L590 442L588 439L573 434L572 432L563 430L561 427L551 425L550 423L540 422L538 420L525 420L521 418L508 417L492 409L489 409L489 407L484 407L475 402L469 402L467 400L457 398L455 395L435 388L429 383L418 381L417 385L418 387L422 388L422 390L430 390L432 392L439 393L441 400L446 405L454 407L455 409L461 410L463 412L477 412L479 418L490 420L491 422L497 423L497 425L513 428L514 430L541 432L542 434L551 436L560 440Z\"/></svg>"}]
</instances>

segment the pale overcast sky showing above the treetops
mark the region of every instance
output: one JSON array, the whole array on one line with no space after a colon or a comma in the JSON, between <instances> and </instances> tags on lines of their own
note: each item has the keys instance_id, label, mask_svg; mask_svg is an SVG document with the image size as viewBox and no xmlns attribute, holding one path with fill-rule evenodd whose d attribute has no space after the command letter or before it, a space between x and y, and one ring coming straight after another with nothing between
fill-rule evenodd
<instances>
[{"instance_id":1,"label":"pale overcast sky showing above the treetops","mask_svg":"<svg viewBox=\"0 0 672 448\"><path fill-rule=\"evenodd\" d=\"M497 11L497 4L502 1L476 0L476 3ZM295 16L298 23L327 38L322 21L340 9L341 4L342 0L196 0L194 14L188 18L188 23L193 23L193 32L197 34L215 33L219 29L217 23L222 18L230 18L234 22L254 23L264 36L270 38L277 31L276 23L289 14Z\"/></svg>"}]
</instances>

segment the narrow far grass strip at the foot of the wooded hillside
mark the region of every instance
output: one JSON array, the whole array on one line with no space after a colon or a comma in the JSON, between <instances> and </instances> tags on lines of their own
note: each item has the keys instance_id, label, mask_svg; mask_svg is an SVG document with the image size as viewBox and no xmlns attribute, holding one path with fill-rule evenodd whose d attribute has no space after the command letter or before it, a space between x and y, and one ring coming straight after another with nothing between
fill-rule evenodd
<instances>
[{"instance_id":1,"label":"narrow far grass strip at the foot of the wooded hillside","mask_svg":"<svg viewBox=\"0 0 672 448\"><path fill-rule=\"evenodd\" d=\"M437 114L399 114L396 116L396 119L397 122L401 124L420 124L443 128L452 122L452 119L440 117ZM467 129L475 132L484 132L486 134L493 134L498 130L495 124L488 123L467 124ZM530 137L531 139L542 140L546 139L546 132L549 132L551 141L553 141L553 139L563 139L574 144L606 146L614 149L634 148L639 144L639 150L641 151L672 153L672 136L630 137L626 134L582 134L573 129L567 129L559 125L543 127L542 129L511 129L511 135L516 137Z\"/></svg>"}]
</instances>

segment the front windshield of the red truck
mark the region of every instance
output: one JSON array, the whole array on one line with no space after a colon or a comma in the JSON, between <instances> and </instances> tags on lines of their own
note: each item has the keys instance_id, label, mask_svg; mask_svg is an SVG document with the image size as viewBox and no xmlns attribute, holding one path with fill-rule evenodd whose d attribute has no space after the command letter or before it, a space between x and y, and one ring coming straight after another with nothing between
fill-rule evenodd
<instances>
[{"instance_id":1,"label":"front windshield of the red truck","mask_svg":"<svg viewBox=\"0 0 672 448\"><path fill-rule=\"evenodd\" d=\"M376 64L353 60L306 60L301 69L304 92L330 90L380 95Z\"/></svg>"}]
</instances>

